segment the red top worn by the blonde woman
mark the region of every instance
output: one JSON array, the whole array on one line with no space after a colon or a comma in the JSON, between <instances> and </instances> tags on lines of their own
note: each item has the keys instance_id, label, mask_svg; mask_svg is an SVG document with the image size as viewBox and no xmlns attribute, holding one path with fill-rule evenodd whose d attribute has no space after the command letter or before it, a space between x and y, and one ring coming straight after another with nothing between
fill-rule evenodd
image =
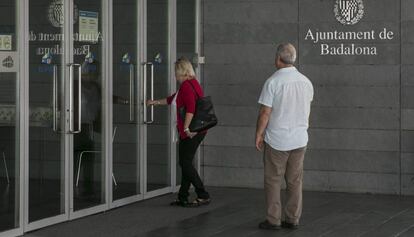
<instances>
[{"instance_id":1,"label":"red top worn by the blonde woman","mask_svg":"<svg viewBox=\"0 0 414 237\"><path fill-rule=\"evenodd\" d=\"M192 85L192 86L191 86ZM193 89L194 88L194 89ZM195 91L194 91L195 90ZM196 94L197 92L197 94ZM176 92L177 93L177 92ZM170 105L174 99L175 94L167 97L167 103ZM187 138L187 134L184 132L184 119L180 115L180 110L185 108L187 113L194 114L196 100L199 97L203 97L203 89L195 78L185 80L178 90L176 99L177 104L177 129L181 139ZM206 132L206 131L205 131Z\"/></svg>"}]
</instances>

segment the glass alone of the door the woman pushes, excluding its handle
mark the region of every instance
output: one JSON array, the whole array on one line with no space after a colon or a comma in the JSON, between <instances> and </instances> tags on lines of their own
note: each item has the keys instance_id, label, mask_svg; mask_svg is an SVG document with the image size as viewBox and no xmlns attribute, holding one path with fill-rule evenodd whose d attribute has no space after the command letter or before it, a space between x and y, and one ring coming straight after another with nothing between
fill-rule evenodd
<instances>
[{"instance_id":1,"label":"glass alone of the door the woman pushes, excluding its handle","mask_svg":"<svg viewBox=\"0 0 414 237\"><path fill-rule=\"evenodd\" d=\"M168 1L147 3L147 60L154 64L154 98L168 96ZM157 62L157 55L162 60ZM158 57L160 58L160 57ZM151 73L148 72L148 82ZM147 94L151 88L148 86ZM148 113L149 114L149 113ZM147 128L147 191L168 187L170 181L168 107L159 106Z\"/></svg>"}]
</instances>

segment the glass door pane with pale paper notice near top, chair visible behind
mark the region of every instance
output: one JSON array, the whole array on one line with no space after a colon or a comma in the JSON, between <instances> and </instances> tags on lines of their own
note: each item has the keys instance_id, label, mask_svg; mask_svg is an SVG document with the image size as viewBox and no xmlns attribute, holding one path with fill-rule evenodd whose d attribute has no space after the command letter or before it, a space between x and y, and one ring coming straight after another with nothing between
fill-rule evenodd
<instances>
[{"instance_id":1,"label":"glass door pane with pale paper notice near top, chair visible behind","mask_svg":"<svg viewBox=\"0 0 414 237\"><path fill-rule=\"evenodd\" d=\"M73 136L74 210L105 203L102 154L102 11L100 0L75 0L74 62L81 65L81 132ZM77 12L77 14L76 14ZM79 78L75 76L74 84ZM77 87L76 87L77 88ZM74 90L75 105L79 91ZM79 108L75 108L75 117ZM78 175L79 174L79 175ZM78 179L79 177L79 179Z\"/></svg>"}]
</instances>

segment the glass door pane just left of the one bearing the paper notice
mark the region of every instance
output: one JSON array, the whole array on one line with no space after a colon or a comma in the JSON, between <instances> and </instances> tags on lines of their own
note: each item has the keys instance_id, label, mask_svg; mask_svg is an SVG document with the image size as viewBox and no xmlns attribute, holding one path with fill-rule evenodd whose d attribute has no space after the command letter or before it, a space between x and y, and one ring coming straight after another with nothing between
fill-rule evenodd
<instances>
[{"instance_id":1,"label":"glass door pane just left of the one bearing the paper notice","mask_svg":"<svg viewBox=\"0 0 414 237\"><path fill-rule=\"evenodd\" d=\"M48 17L62 6L52 0L29 2L29 222L64 210L62 155L62 28ZM55 106L54 106L55 105ZM55 126L53 124L55 123Z\"/></svg>"}]
</instances>

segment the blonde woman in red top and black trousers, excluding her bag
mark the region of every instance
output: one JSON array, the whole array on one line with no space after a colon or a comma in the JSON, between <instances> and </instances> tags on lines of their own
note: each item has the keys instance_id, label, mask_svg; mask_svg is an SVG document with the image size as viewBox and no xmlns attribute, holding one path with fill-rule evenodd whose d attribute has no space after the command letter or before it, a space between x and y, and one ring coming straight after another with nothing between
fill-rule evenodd
<instances>
[{"instance_id":1,"label":"blonde woman in red top and black trousers, excluding her bag","mask_svg":"<svg viewBox=\"0 0 414 237\"><path fill-rule=\"evenodd\" d=\"M185 207L209 204L210 195L205 190L204 184L193 166L194 155L206 136L206 132L195 133L188 128L194 116L196 100L198 97L204 96L203 90L195 78L191 62L186 58L180 58L175 63L175 77L180 84L180 88L176 93L165 99L147 101L148 105L172 105L173 109L177 111L176 124L180 136L178 146L179 164L182 177L178 199L171 204ZM193 184L197 193L197 198L193 202L188 201L188 190L191 184Z\"/></svg>"}]
</instances>

